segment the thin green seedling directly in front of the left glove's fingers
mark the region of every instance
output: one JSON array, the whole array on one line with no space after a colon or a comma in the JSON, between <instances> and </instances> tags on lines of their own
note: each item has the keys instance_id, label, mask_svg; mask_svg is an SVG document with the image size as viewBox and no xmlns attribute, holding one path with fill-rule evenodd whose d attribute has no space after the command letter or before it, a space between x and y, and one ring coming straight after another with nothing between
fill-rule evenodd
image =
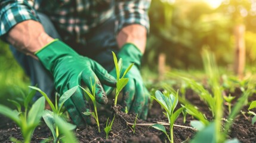
<instances>
[{"instance_id":1,"label":"thin green seedling directly in front of the left glove's fingers","mask_svg":"<svg viewBox=\"0 0 256 143\"><path fill-rule=\"evenodd\" d=\"M91 77L90 77L90 80L91 80ZM82 87L80 86L80 88L82 88ZM92 104L94 106L94 112L87 111L87 112L84 112L83 114L85 114L86 116L92 115L92 117L94 117L94 119L97 122L98 132L100 133L100 123L98 122L97 102L96 102L96 98L95 98L95 91L96 91L96 82L95 82L95 80L94 80L93 85L92 85L92 80L91 80L91 91L92 91L92 93L90 91L85 90L84 88L82 88L82 89L90 97L90 99L92 101ZM85 98L88 98L88 97L85 96Z\"/></svg>"}]
</instances>

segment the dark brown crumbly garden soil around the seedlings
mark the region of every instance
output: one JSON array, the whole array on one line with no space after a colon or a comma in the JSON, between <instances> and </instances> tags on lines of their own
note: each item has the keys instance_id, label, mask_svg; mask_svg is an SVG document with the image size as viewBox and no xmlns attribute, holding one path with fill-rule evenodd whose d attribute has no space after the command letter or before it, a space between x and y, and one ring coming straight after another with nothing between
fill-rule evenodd
<instances>
[{"instance_id":1,"label":"dark brown crumbly garden soil around the seedlings","mask_svg":"<svg viewBox=\"0 0 256 143\"><path fill-rule=\"evenodd\" d=\"M227 93L228 94L228 93ZM236 89L233 96L236 96L236 100L242 94L239 89ZM200 100L198 95L193 91L188 90L186 93L186 98L192 104L196 105L205 116L211 120L211 111L208 109L206 104ZM256 96L253 95L248 101L255 101ZM235 102L235 101L234 101ZM227 106L224 114L227 116ZM127 125L127 122L134 123L135 114L125 114L118 110L115 121L113 123L112 132L109 133L109 139L106 139L106 134L104 133L104 127L106 126L107 117L112 115L112 110L109 107L101 107L99 110L100 115L100 128L101 133L97 132L97 126L87 126L85 128L78 128L75 130L75 135L77 136L79 142L168 142L165 134L159 130L153 129L149 126L136 126L135 133L132 132L131 125ZM109 109L109 110L107 110ZM242 111L248 111L248 106L243 107ZM255 111L255 110L252 110ZM238 138L240 142L256 142L256 125L251 124L251 116L248 114L240 113L235 119L235 123L229 132L229 138ZM11 120L0 116L0 142L10 142L10 138L14 137L22 140L20 129ZM186 123L183 123L182 114L178 117L175 122L176 125L190 126L189 123L194 120L192 116L187 115ZM153 123L156 121L168 122L166 117L162 114L162 109L158 103L154 103L153 107L149 111L149 116L147 120L137 120L137 123ZM166 126L168 130L168 126ZM190 128L180 128L174 127L174 142L186 142L193 139L196 131ZM44 122L41 123L38 128L36 128L33 133L32 142L40 142L43 139L50 138L51 132L47 128ZM52 142L52 141L50 141Z\"/></svg>"}]
</instances>

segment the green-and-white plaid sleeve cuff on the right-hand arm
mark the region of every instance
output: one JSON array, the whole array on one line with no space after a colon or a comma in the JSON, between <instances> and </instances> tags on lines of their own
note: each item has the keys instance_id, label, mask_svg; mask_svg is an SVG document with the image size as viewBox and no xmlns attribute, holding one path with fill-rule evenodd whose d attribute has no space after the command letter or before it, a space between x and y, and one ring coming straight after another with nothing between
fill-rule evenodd
<instances>
[{"instance_id":1,"label":"green-and-white plaid sleeve cuff on the right-hand arm","mask_svg":"<svg viewBox=\"0 0 256 143\"><path fill-rule=\"evenodd\" d=\"M149 10L151 0L118 0L115 15L117 18L116 33L129 24L140 24L149 33Z\"/></svg>"}]
</instances>

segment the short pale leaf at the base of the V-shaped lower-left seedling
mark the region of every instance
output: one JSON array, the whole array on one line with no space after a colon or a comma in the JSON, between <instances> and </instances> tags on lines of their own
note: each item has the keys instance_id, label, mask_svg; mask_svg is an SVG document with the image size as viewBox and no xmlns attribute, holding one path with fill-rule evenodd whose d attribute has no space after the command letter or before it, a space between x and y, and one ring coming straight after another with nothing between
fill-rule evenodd
<instances>
[{"instance_id":1,"label":"short pale leaf at the base of the V-shaped lower-left seedling","mask_svg":"<svg viewBox=\"0 0 256 143\"><path fill-rule=\"evenodd\" d=\"M57 141L57 135L54 129L54 116L53 116L53 112L49 111L49 110L45 110L43 115L42 115L44 122L46 123L46 125L48 126L48 128L51 130L51 133L53 134L53 138L54 138L54 142Z\"/></svg>"}]
</instances>

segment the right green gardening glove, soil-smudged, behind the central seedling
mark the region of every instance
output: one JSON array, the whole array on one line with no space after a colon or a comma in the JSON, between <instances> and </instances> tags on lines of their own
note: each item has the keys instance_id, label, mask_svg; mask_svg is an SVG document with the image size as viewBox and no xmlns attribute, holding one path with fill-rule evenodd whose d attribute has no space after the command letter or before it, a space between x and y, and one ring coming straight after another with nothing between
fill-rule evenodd
<instances>
[{"instance_id":1,"label":"right green gardening glove, soil-smudged, behind the central seedling","mask_svg":"<svg viewBox=\"0 0 256 143\"><path fill-rule=\"evenodd\" d=\"M122 72L124 72L131 63L134 63L134 66L132 66L131 70L129 70L125 76L129 78L129 82L122 91L121 105L123 110L127 107L129 112L138 113L138 117L146 119L150 95L143 84L139 70L142 53L134 44L126 43L119 51L117 57L118 59L122 58ZM116 70L113 69L110 71L110 74L116 77ZM104 86L104 89L107 94L113 91L113 88L109 86Z\"/></svg>"}]
</instances>

